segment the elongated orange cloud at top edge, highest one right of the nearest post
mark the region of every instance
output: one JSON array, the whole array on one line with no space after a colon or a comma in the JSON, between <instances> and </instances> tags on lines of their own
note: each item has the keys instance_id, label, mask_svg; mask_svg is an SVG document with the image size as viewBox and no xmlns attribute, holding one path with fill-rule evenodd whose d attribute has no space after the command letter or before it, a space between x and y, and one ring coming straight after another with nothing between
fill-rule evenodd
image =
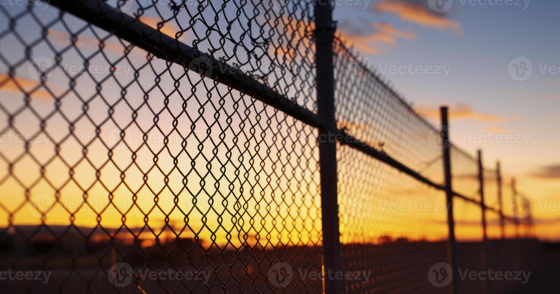
<instances>
[{"instance_id":1,"label":"elongated orange cloud at top edge, highest one right of the nearest post","mask_svg":"<svg viewBox=\"0 0 560 294\"><path fill-rule=\"evenodd\" d=\"M452 29L455 31L461 31L462 29L461 23L449 20L449 18L444 16L436 15L429 11L426 6L402 0L382 0L374 6L374 11L395 13L404 21L418 23L423 26Z\"/></svg>"}]
</instances>

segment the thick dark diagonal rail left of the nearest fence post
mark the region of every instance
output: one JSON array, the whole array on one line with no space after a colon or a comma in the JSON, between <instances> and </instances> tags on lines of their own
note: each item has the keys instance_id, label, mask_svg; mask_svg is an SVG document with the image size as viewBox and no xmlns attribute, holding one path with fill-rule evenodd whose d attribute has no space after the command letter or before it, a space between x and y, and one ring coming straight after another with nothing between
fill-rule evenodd
<instances>
[{"instance_id":1,"label":"thick dark diagonal rail left of the nearest fence post","mask_svg":"<svg viewBox=\"0 0 560 294\"><path fill-rule=\"evenodd\" d=\"M197 66L190 67L193 61L197 65L209 64L212 70L209 77L216 82L225 84L242 93L264 102L278 110L287 113L298 120L314 127L323 127L323 120L314 112L298 105L274 89L258 82L240 69L217 60L212 55L204 53L174 37L162 33L146 25L138 18L119 12L117 8L110 7L101 0L52 0L50 4L60 10L72 13L93 25L100 27L115 36L142 48L157 58L179 64L190 70L203 74L206 69ZM198 69L198 70L197 70ZM208 73L208 71L206 72Z\"/></svg>"}]
</instances>

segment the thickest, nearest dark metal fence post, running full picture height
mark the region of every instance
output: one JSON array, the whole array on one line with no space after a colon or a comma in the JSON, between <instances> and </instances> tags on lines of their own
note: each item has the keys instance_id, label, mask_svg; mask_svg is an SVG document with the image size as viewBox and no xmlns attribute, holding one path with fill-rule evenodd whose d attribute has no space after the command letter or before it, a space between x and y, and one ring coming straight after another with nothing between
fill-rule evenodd
<instances>
[{"instance_id":1,"label":"thickest, nearest dark metal fence post, running full picture height","mask_svg":"<svg viewBox=\"0 0 560 294\"><path fill-rule=\"evenodd\" d=\"M333 273L342 272L337 199L337 143L334 108L334 26L332 3L314 1L316 45L317 115L324 121L319 129L319 167L321 172L321 211L323 215L324 290L326 294L342 293L342 279Z\"/></svg>"}]
</instances>

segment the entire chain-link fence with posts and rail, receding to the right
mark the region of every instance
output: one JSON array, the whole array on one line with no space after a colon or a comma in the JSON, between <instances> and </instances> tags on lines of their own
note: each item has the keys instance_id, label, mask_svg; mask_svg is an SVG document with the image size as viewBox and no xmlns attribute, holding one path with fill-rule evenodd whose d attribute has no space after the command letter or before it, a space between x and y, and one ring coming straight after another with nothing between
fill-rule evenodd
<instances>
[{"instance_id":1,"label":"entire chain-link fence with posts and rail, receding to the right","mask_svg":"<svg viewBox=\"0 0 560 294\"><path fill-rule=\"evenodd\" d=\"M328 2L0 13L3 291L447 292L426 277L456 254L440 130L338 38ZM502 205L515 188L483 170L480 193L477 160L450 153L456 239L527 236Z\"/></svg>"}]
</instances>

